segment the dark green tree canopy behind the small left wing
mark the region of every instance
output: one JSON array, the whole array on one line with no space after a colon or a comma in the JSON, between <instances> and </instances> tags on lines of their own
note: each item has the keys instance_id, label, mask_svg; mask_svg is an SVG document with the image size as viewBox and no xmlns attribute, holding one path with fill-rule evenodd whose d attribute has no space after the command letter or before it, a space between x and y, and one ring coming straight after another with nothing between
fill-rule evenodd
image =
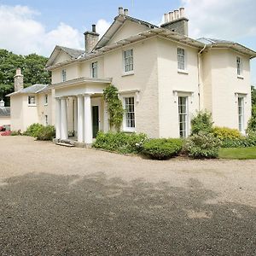
<instances>
[{"instance_id":1,"label":"dark green tree canopy behind the small left wing","mask_svg":"<svg viewBox=\"0 0 256 256\"><path fill-rule=\"evenodd\" d=\"M44 56L15 55L6 49L0 49L0 99L3 98L9 105L7 94L15 90L14 76L17 67L21 68L24 75L24 86L32 84L49 84L49 72L44 70L47 58Z\"/></svg>"}]
</instances>

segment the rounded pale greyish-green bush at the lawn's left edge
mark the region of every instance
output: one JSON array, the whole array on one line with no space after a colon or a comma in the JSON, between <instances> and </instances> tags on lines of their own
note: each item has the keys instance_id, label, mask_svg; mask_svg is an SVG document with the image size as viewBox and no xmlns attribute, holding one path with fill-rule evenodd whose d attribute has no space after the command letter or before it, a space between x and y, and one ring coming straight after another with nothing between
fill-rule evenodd
<instances>
[{"instance_id":1,"label":"rounded pale greyish-green bush at the lawn's left edge","mask_svg":"<svg viewBox=\"0 0 256 256\"><path fill-rule=\"evenodd\" d=\"M184 151L195 159L217 158L220 145L221 141L212 133L200 131L187 139Z\"/></svg>"}]
</instances>

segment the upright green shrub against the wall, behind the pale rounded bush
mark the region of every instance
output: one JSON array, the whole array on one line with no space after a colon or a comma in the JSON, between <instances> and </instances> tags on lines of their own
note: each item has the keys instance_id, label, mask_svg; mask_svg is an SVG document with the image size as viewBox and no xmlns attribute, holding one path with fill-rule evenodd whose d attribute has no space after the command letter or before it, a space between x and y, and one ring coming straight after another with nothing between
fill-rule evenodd
<instances>
[{"instance_id":1,"label":"upright green shrub against the wall, behind the pale rounded bush","mask_svg":"<svg viewBox=\"0 0 256 256\"><path fill-rule=\"evenodd\" d=\"M200 131L210 133L212 132L212 125L212 114L207 111L200 111L191 119L191 135L198 134Z\"/></svg>"}]
</instances>

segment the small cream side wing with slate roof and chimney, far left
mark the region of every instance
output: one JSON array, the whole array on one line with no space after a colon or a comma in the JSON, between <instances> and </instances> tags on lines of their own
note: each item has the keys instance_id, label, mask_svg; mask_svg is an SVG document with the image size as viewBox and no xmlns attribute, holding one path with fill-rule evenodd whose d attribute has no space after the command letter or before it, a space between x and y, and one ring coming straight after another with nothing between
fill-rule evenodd
<instances>
[{"instance_id":1,"label":"small cream side wing with slate roof and chimney, far left","mask_svg":"<svg viewBox=\"0 0 256 256\"><path fill-rule=\"evenodd\" d=\"M51 90L48 84L33 84L24 88L20 68L15 74L15 92L10 97L11 130L26 131L29 125L51 124Z\"/></svg>"}]
</instances>

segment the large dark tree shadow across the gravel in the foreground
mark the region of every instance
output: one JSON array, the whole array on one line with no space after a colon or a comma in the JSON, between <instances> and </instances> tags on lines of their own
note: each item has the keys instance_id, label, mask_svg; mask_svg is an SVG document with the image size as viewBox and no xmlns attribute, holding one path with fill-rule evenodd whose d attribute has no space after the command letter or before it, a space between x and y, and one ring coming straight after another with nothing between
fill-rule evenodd
<instances>
[{"instance_id":1,"label":"large dark tree shadow across the gravel in the foreground","mask_svg":"<svg viewBox=\"0 0 256 256\"><path fill-rule=\"evenodd\" d=\"M0 185L0 255L255 255L256 209L191 179L28 174Z\"/></svg>"}]
</instances>

